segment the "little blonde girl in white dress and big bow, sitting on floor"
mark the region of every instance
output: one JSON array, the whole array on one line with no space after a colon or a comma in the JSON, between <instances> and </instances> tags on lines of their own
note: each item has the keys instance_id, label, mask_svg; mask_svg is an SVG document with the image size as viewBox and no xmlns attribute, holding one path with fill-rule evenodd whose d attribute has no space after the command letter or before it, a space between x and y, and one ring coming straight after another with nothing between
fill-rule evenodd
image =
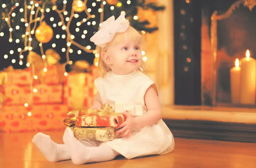
<instances>
[{"instance_id":1,"label":"little blonde girl in white dress and big bow, sitting on floor","mask_svg":"<svg viewBox=\"0 0 256 168\"><path fill-rule=\"evenodd\" d=\"M38 133L32 142L49 162L71 159L74 164L102 162L122 155L127 159L151 154L167 154L174 149L174 138L161 119L161 107L154 82L143 74L141 35L129 26L125 14L108 18L90 39L99 54L101 77L94 81L98 93L91 108L108 103L126 120L116 127L122 138L102 142L77 140L67 127L64 144ZM120 111L120 109L122 111Z\"/></svg>"}]
</instances>

